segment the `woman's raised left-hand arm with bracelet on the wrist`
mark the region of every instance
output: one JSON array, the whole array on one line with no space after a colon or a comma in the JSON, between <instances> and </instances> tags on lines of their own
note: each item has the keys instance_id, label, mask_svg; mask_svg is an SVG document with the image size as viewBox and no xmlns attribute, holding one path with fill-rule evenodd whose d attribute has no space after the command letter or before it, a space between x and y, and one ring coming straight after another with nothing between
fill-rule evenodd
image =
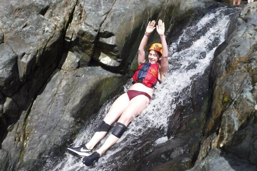
<instances>
[{"instance_id":1,"label":"woman's raised left-hand arm with bracelet on the wrist","mask_svg":"<svg viewBox=\"0 0 257 171\"><path fill-rule=\"evenodd\" d=\"M155 29L155 21L149 21L146 30L145 30L145 35L141 40L141 43L139 45L138 48L138 65L140 65L140 62L144 63L145 62L145 47L148 41L148 38L150 36L150 34L154 31Z\"/></svg>"}]
</instances>

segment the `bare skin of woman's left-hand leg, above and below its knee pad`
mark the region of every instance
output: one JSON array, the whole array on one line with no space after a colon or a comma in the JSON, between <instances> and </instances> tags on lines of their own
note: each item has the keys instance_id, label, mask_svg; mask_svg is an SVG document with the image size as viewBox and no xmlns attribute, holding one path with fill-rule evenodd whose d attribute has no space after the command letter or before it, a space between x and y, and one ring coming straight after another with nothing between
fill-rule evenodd
<instances>
[{"instance_id":1,"label":"bare skin of woman's left-hand leg, above and below its knee pad","mask_svg":"<svg viewBox=\"0 0 257 171\"><path fill-rule=\"evenodd\" d=\"M127 93L122 94L118 97L112 104L110 110L106 114L104 121L108 125L111 125L118 117L121 116L122 112L129 105L129 97ZM92 138L86 143L86 147L89 150L92 150L94 146L107 134L105 131L95 132Z\"/></svg>"}]
</instances>

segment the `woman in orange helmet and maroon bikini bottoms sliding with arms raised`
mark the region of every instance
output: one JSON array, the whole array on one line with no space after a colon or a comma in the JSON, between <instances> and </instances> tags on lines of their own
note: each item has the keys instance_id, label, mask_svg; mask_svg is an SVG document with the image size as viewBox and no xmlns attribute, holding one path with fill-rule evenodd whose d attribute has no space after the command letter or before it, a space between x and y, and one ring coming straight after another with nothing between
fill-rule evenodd
<instances>
[{"instance_id":1,"label":"woman in orange helmet and maroon bikini bottoms sliding with arms raised","mask_svg":"<svg viewBox=\"0 0 257 171\"><path fill-rule=\"evenodd\" d=\"M75 148L67 148L67 151L72 155L84 156L82 162L86 166L90 166L98 161L100 156L119 140L133 118L147 107L152 98L155 85L161 82L162 77L164 77L164 74L168 71L168 46L164 35L164 22L162 22L162 20L159 20L156 26L156 31L160 36L161 43L154 43L150 46L148 61L145 60L144 49L154 29L155 21L149 21L145 35L139 45L139 67L133 75L132 86L126 93L115 100L88 143ZM118 122L113 128L112 134L110 134L105 143L98 150L92 153L94 146L107 134L110 125L117 119Z\"/></svg>"}]
</instances>

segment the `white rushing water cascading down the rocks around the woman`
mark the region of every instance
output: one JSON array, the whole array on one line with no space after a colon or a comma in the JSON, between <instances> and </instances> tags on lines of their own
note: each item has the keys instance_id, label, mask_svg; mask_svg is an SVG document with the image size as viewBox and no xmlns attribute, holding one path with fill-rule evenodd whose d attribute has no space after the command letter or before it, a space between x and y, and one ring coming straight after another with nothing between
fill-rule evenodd
<instances>
[{"instance_id":1,"label":"white rushing water cascading down the rocks around the woman","mask_svg":"<svg viewBox=\"0 0 257 171\"><path fill-rule=\"evenodd\" d=\"M123 166L128 167L138 162L141 157L151 153L158 143L167 141L169 117L176 105L183 103L183 99L190 95L191 82L195 77L202 75L209 66L215 49L224 41L229 18L237 10L228 7L213 9L190 27L185 28L176 41L168 42L169 71L165 81L155 90L149 106L132 121L120 140L98 160L97 164L86 167L79 157L65 153L62 158L55 159L58 160L57 165L52 166L53 159L49 159L44 170L119 170ZM129 88L131 82L131 80L127 82L124 91ZM188 91L185 91L186 87L189 87ZM184 97L178 98L181 91L185 91L182 93ZM93 130L102 121L117 97L118 95L106 102L97 116L85 123L85 128L77 135L72 146L86 143L92 137Z\"/></svg>"}]
</instances>

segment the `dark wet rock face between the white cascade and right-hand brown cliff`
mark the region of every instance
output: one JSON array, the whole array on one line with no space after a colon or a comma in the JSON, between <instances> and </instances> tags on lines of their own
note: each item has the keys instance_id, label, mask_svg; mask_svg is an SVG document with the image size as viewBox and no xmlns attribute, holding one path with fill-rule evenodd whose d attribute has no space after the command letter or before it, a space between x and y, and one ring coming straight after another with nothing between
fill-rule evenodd
<instances>
[{"instance_id":1,"label":"dark wet rock face between the white cascade and right-hand brown cliff","mask_svg":"<svg viewBox=\"0 0 257 171\"><path fill-rule=\"evenodd\" d=\"M189 89L190 88L190 89ZM211 88L209 87L209 67L205 73L192 81L181 93L190 91L183 102L175 110L169 121L168 136L184 135L185 132L201 130L208 113ZM180 96L178 96L179 98Z\"/></svg>"}]
</instances>

